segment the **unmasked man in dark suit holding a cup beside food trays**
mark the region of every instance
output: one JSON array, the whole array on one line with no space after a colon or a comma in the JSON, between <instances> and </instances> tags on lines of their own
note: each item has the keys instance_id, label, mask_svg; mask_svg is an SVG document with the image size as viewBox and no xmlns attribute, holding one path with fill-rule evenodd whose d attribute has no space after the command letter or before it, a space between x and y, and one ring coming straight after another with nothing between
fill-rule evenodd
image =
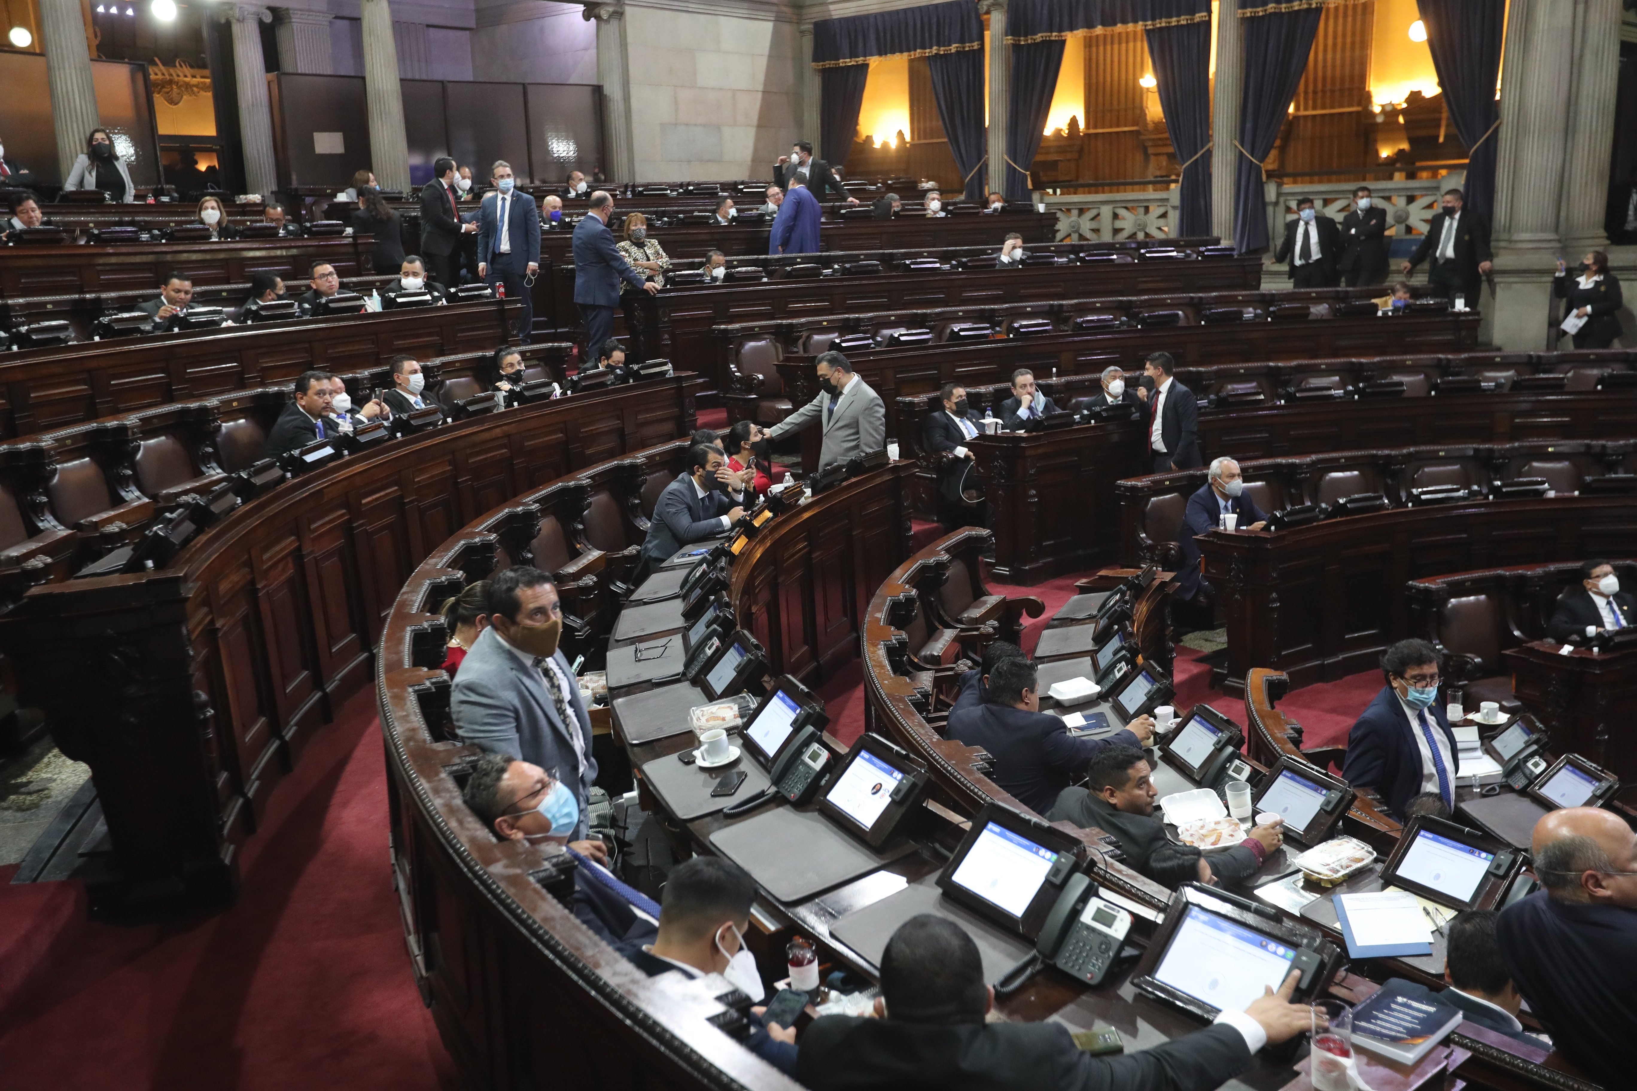
<instances>
[{"instance_id":1,"label":"unmasked man in dark suit holding a cup beside food trays","mask_svg":"<svg viewBox=\"0 0 1637 1091\"><path fill-rule=\"evenodd\" d=\"M1182 883L1238 885L1256 875L1269 852L1285 844L1283 821L1256 826L1236 846L1205 855L1193 846L1166 836L1154 818L1154 769L1134 746L1105 746L1085 770L1084 787L1067 787L1046 811L1046 821L1066 821L1080 829L1102 829L1120 842L1128 867L1175 890Z\"/></svg>"}]
</instances>

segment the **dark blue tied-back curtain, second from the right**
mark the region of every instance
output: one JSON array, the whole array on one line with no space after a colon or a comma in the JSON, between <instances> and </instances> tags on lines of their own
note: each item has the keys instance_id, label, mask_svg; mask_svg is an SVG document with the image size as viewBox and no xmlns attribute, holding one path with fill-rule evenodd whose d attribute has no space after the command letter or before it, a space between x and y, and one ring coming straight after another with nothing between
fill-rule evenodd
<instances>
[{"instance_id":1,"label":"dark blue tied-back curtain, second from the right","mask_svg":"<svg viewBox=\"0 0 1637 1091\"><path fill-rule=\"evenodd\" d=\"M1323 8L1277 10L1278 0L1244 0L1244 92L1239 98L1239 146L1233 152L1233 242L1239 254L1267 249L1267 200L1262 193L1262 160L1274 150L1308 67L1313 36ZM1275 8L1259 13L1259 8Z\"/></svg>"}]
</instances>

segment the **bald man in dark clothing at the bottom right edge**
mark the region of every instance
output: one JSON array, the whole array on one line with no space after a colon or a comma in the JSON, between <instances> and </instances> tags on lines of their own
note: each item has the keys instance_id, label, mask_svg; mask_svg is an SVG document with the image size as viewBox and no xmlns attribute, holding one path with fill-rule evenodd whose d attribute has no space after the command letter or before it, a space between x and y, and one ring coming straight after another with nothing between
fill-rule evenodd
<instances>
[{"instance_id":1,"label":"bald man in dark clothing at the bottom right edge","mask_svg":"<svg viewBox=\"0 0 1637 1091\"><path fill-rule=\"evenodd\" d=\"M1632 1084L1637 834L1614 811L1547 811L1531 841L1545 890L1501 909L1495 937L1529 1011L1604 1088Z\"/></svg>"}]
</instances>

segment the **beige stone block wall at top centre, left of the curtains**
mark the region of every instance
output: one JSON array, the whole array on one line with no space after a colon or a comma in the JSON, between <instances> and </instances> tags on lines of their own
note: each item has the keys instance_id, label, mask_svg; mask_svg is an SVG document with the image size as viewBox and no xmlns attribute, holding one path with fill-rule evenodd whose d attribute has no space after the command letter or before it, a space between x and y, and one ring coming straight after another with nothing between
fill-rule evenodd
<instances>
[{"instance_id":1,"label":"beige stone block wall at top centre, left of the curtains","mask_svg":"<svg viewBox=\"0 0 1637 1091\"><path fill-rule=\"evenodd\" d=\"M766 178L804 136L796 23L629 3L625 47L637 182Z\"/></svg>"}]
</instances>

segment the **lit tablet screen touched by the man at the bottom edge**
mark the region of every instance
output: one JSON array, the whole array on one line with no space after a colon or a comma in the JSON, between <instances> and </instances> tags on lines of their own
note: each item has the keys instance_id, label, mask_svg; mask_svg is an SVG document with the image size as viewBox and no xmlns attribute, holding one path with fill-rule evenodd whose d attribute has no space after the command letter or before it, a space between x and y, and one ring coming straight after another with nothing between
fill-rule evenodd
<instances>
[{"instance_id":1,"label":"lit tablet screen touched by the man at the bottom edge","mask_svg":"<svg viewBox=\"0 0 1637 1091\"><path fill-rule=\"evenodd\" d=\"M1188 906L1154 980L1218 1011L1244 1011L1264 985L1283 983L1295 957L1295 947Z\"/></svg>"}]
</instances>

